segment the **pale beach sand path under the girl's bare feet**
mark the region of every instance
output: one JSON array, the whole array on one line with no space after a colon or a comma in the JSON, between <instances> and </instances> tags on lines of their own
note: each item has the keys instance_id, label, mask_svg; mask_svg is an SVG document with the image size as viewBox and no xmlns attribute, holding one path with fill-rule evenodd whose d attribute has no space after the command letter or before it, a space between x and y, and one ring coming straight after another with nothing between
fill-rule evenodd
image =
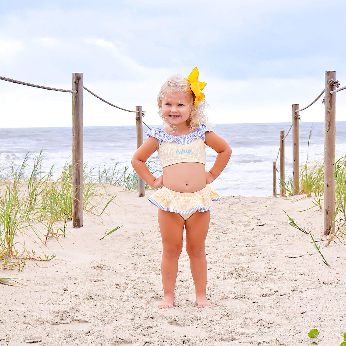
<instances>
[{"instance_id":1,"label":"pale beach sand path under the girl's bare feet","mask_svg":"<svg viewBox=\"0 0 346 346\"><path fill-rule=\"evenodd\" d=\"M117 204L101 220L85 216L65 237L33 244L49 262L28 261L24 270L2 271L18 283L0 285L1 345L339 345L346 331L346 246L311 244L321 239L323 214L312 198L225 197L215 202L206 242L207 297L194 305L186 250L179 261L175 307L163 298L157 209L147 197L109 187ZM121 228L100 240L118 223ZM29 246L30 248L30 246ZM275 342L276 340L276 342Z\"/></svg>"}]
</instances>

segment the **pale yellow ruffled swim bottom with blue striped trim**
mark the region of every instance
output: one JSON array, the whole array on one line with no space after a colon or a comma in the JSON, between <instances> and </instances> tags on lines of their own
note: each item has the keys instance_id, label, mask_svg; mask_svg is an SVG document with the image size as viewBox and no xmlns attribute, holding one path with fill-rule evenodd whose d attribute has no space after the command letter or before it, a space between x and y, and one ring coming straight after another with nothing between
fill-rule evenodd
<instances>
[{"instance_id":1,"label":"pale yellow ruffled swim bottom with blue striped trim","mask_svg":"<svg viewBox=\"0 0 346 346\"><path fill-rule=\"evenodd\" d=\"M149 201L159 209L179 213L184 220L197 210L210 210L213 207L212 201L221 199L222 197L208 185L202 190L190 193L177 192L162 186L149 197Z\"/></svg>"}]
</instances>

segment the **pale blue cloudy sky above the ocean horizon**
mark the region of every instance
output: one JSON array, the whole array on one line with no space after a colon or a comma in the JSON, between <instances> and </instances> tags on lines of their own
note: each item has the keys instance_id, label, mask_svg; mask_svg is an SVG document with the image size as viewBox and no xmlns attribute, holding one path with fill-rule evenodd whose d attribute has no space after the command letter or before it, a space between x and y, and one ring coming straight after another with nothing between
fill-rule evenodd
<instances>
[{"instance_id":1,"label":"pale blue cloudy sky above the ocean horizon","mask_svg":"<svg viewBox=\"0 0 346 346\"><path fill-rule=\"evenodd\" d=\"M197 66L214 124L291 122L324 89L346 85L346 2L333 0L0 0L0 75L72 89L161 124L157 93ZM336 94L346 121L346 90ZM302 121L324 121L318 100ZM71 126L71 93L0 80L1 127ZM135 125L134 113L83 91L84 126Z\"/></svg>"}]
</instances>

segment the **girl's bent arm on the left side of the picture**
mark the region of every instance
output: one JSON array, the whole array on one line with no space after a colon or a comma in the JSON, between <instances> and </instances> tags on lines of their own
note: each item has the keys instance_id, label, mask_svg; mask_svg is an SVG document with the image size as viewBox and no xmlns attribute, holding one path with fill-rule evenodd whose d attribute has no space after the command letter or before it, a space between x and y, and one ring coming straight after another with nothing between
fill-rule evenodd
<instances>
[{"instance_id":1,"label":"girl's bent arm on the left side of the picture","mask_svg":"<svg viewBox=\"0 0 346 346\"><path fill-rule=\"evenodd\" d=\"M142 178L148 185L154 189L162 188L163 186L163 175L155 178L150 173L148 166L145 162L148 160L150 155L158 149L158 139L155 137L148 137L144 143L136 150L132 157L131 164L134 170L137 172L140 178Z\"/></svg>"}]
</instances>

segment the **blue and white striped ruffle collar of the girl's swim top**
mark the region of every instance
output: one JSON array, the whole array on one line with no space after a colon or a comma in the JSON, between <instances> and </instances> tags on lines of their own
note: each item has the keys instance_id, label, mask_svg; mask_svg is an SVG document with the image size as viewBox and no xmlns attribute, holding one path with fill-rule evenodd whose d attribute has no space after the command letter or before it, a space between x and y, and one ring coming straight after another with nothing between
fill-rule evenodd
<instances>
[{"instance_id":1,"label":"blue and white striped ruffle collar of the girl's swim top","mask_svg":"<svg viewBox=\"0 0 346 346\"><path fill-rule=\"evenodd\" d=\"M192 142L195 138L201 137L203 139L203 142L206 140L206 131L210 132L210 130L206 125L201 124L198 126L197 129L194 129L187 135L180 135L180 136L174 136L168 134L164 129L161 129L159 127L153 127L149 131L145 131L146 135L148 137L152 136L158 139L158 145L161 145L162 142L175 142L179 144L188 144Z\"/></svg>"}]
</instances>

